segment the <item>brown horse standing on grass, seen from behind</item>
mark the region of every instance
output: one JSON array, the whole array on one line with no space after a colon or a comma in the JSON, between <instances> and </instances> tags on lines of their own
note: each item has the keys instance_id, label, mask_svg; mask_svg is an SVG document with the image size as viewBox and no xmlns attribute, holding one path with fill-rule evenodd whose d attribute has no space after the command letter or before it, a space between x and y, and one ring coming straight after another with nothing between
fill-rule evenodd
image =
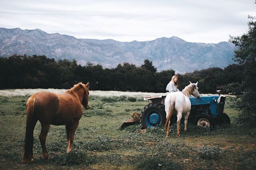
<instances>
[{"instance_id":1,"label":"brown horse standing on grass, seen from behind","mask_svg":"<svg viewBox=\"0 0 256 170\"><path fill-rule=\"evenodd\" d=\"M39 135L43 150L43 159L49 159L45 141L50 125L66 125L68 148L72 150L74 133L82 116L82 106L88 109L87 84L78 83L62 94L37 92L30 96L26 105L27 123L25 135L24 157L22 162L33 162L33 132L39 120L42 126Z\"/></svg>"}]
</instances>

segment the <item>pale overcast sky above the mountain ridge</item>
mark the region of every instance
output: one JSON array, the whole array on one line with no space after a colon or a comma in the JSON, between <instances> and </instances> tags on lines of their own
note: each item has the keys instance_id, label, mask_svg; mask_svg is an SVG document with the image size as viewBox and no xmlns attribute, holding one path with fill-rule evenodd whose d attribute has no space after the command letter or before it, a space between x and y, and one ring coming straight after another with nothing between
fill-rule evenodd
<instances>
[{"instance_id":1,"label":"pale overcast sky above the mountain ridge","mask_svg":"<svg viewBox=\"0 0 256 170\"><path fill-rule=\"evenodd\" d=\"M151 41L177 36L219 43L248 31L255 0L0 0L0 27L86 39Z\"/></svg>"}]
</instances>

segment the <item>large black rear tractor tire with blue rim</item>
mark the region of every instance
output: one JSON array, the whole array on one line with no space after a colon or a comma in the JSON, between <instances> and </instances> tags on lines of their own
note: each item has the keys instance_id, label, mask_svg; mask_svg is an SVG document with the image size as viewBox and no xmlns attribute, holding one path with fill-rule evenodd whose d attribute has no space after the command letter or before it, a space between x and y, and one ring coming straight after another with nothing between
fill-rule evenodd
<instances>
[{"instance_id":1,"label":"large black rear tractor tire with blue rim","mask_svg":"<svg viewBox=\"0 0 256 170\"><path fill-rule=\"evenodd\" d=\"M154 102L144 107L142 110L142 129L148 127L163 127L166 122L164 105Z\"/></svg>"}]
</instances>

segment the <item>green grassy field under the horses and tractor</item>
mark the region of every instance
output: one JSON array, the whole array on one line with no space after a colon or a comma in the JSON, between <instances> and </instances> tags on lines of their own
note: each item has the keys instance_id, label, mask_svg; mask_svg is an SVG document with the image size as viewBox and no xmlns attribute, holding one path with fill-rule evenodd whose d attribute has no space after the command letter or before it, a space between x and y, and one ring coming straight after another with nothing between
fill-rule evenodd
<instances>
[{"instance_id":1,"label":"green grassy field under the horses and tractor","mask_svg":"<svg viewBox=\"0 0 256 170\"><path fill-rule=\"evenodd\" d=\"M256 169L255 129L242 129L235 122L238 114L225 107L231 125L214 129L188 125L176 138L175 124L167 139L163 129L140 133L141 125L120 130L134 112L148 102L140 97L90 96L90 109L84 110L76 130L72 152L66 153L64 126L51 125L46 140L49 160L42 159L38 135L34 130L34 162L22 164L28 96L0 97L1 169ZM136 100L136 102L131 102Z\"/></svg>"}]
</instances>

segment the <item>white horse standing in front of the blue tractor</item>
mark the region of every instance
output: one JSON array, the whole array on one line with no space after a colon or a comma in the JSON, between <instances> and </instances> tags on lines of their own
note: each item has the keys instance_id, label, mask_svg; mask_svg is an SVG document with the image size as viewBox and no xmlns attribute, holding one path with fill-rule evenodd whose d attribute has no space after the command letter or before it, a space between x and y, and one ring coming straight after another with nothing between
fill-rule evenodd
<instances>
[{"instance_id":1,"label":"white horse standing in front of the blue tractor","mask_svg":"<svg viewBox=\"0 0 256 170\"><path fill-rule=\"evenodd\" d=\"M167 133L166 137L170 137L169 127L170 127L170 118L172 113L177 113L177 137L180 137L180 119L182 114L185 115L185 128L184 131L187 131L188 116L191 109L191 102L189 97L193 95L195 98L199 98L200 94L198 92L197 83L191 83L182 90L182 92L172 92L169 93L164 101L165 112L166 112L166 123L165 131Z\"/></svg>"}]
</instances>

